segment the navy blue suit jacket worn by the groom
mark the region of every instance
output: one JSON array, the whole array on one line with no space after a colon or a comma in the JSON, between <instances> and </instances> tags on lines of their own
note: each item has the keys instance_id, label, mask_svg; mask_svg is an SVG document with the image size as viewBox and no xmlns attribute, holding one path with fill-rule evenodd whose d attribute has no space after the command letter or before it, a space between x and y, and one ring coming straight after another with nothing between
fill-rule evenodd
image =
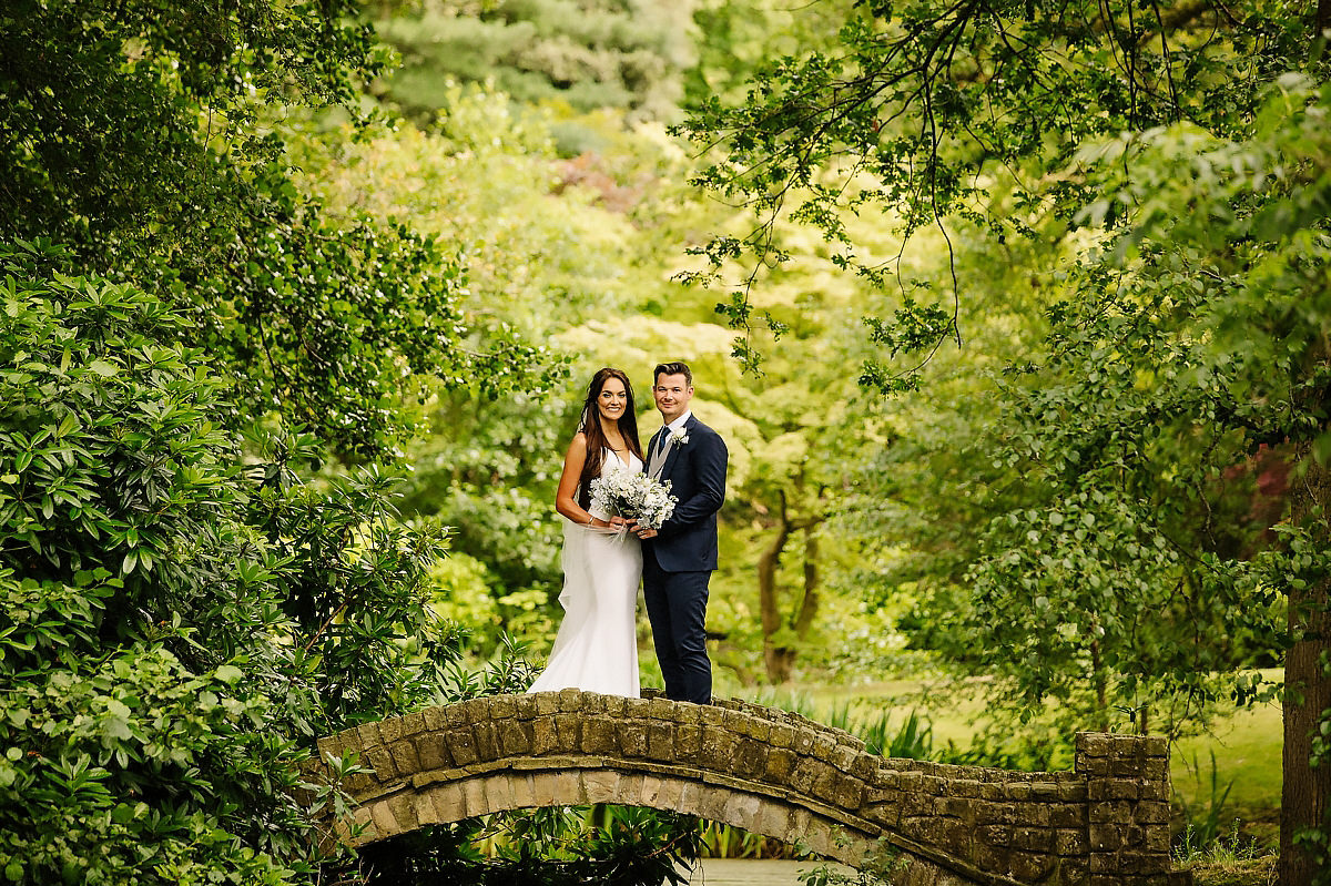
<instances>
[{"instance_id":1,"label":"navy blue suit jacket worn by the groom","mask_svg":"<svg viewBox=\"0 0 1331 886\"><path fill-rule=\"evenodd\" d=\"M725 500L729 452L721 435L696 415L684 423L684 432L688 443L671 447L660 474L679 502L643 553L655 556L666 572L709 572L716 568L716 512ZM654 436L648 452L655 444Z\"/></svg>"}]
</instances>

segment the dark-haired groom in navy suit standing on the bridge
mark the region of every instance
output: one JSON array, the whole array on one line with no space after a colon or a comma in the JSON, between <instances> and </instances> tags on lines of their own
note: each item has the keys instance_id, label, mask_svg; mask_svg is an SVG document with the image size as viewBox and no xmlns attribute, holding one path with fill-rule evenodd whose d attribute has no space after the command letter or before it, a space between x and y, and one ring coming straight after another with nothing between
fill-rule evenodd
<instances>
[{"instance_id":1,"label":"dark-haired groom in navy suit standing on the bridge","mask_svg":"<svg viewBox=\"0 0 1331 886\"><path fill-rule=\"evenodd\" d=\"M705 705L712 700L707 583L716 568L716 512L725 499L728 455L720 435L688 408L693 374L685 363L656 367L652 398L666 426L647 447L647 474L669 480L679 502L660 529L635 529L643 539L643 599L666 697Z\"/></svg>"}]
</instances>

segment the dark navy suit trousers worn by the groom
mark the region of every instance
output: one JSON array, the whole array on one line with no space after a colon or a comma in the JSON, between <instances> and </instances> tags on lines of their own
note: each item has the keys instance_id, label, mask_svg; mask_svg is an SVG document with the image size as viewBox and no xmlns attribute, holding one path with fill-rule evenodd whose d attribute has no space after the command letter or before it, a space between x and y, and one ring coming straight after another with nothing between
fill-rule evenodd
<instances>
[{"instance_id":1,"label":"dark navy suit trousers worn by the groom","mask_svg":"<svg viewBox=\"0 0 1331 886\"><path fill-rule=\"evenodd\" d=\"M699 705L712 701L712 661L707 657L704 572L666 572L654 552L643 552L643 601L652 625L666 697Z\"/></svg>"}]
</instances>

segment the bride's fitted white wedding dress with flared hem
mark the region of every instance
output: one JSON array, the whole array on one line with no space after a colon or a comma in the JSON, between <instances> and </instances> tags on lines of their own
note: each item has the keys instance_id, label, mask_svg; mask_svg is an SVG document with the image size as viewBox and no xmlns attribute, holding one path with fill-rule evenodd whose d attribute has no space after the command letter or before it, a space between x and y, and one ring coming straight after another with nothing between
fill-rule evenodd
<instances>
[{"instance_id":1,"label":"bride's fitted white wedding dress with flared hem","mask_svg":"<svg viewBox=\"0 0 1331 886\"><path fill-rule=\"evenodd\" d=\"M630 454L628 467L643 470ZM606 450L602 476L623 466ZM611 515L592 508L592 516ZM584 689L612 696L639 697L638 686L638 583L643 575L643 549L638 537L564 521L564 589L559 603L564 620L544 672L527 692Z\"/></svg>"}]
</instances>

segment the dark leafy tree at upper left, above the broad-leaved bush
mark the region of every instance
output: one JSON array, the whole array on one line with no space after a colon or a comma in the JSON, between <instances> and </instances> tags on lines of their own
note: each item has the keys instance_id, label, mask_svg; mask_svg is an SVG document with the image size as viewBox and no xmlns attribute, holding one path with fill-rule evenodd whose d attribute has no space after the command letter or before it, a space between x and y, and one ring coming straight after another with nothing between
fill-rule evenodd
<instances>
[{"instance_id":1,"label":"dark leafy tree at upper left, above the broad-leaved bush","mask_svg":"<svg viewBox=\"0 0 1331 886\"><path fill-rule=\"evenodd\" d=\"M301 136L280 102L350 104L379 71L355 4L173 12L5 13L0 158L13 177L0 237L52 237L73 253L61 270L188 307L194 322L176 334L226 363L233 428L277 412L363 462L391 458L411 432L401 407L423 379L539 387L538 350L474 341L451 247L334 216L293 185L284 152Z\"/></svg>"}]
</instances>

